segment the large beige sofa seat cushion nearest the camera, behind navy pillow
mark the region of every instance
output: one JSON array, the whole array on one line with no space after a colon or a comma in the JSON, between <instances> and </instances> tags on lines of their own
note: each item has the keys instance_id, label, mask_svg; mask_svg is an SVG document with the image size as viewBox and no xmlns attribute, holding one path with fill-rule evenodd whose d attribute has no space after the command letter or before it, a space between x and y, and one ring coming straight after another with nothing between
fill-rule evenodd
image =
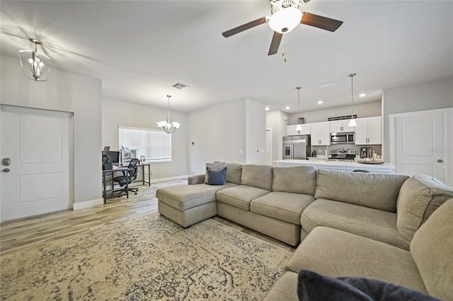
<instances>
[{"instance_id":1,"label":"large beige sofa seat cushion nearest the camera, behind navy pillow","mask_svg":"<svg viewBox=\"0 0 453 301\"><path fill-rule=\"evenodd\" d=\"M333 228L316 227L287 262L329 277L361 277L405 286L426 294L411 252Z\"/></svg>"}]
</instances>

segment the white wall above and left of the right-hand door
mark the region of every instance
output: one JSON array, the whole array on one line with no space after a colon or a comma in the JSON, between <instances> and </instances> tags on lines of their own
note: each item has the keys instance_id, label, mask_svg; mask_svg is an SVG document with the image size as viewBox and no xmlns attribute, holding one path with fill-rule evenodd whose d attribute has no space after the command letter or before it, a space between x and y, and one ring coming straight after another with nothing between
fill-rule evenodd
<instances>
[{"instance_id":1,"label":"white wall above and left of the right-hand door","mask_svg":"<svg viewBox=\"0 0 453 301\"><path fill-rule=\"evenodd\" d=\"M453 107L453 77L384 90L383 95L384 158L390 158L389 114ZM449 129L451 139L452 131ZM452 154L449 154L452 156ZM452 162L452 160L449 160ZM449 170L452 170L450 167Z\"/></svg>"}]
</instances>

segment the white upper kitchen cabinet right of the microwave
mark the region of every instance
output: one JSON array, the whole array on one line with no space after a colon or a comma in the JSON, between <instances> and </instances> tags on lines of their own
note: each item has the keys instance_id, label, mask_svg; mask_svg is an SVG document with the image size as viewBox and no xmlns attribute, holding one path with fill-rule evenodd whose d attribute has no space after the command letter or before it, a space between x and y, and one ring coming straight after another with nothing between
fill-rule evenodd
<instances>
[{"instance_id":1,"label":"white upper kitchen cabinet right of the microwave","mask_svg":"<svg viewBox=\"0 0 453 301\"><path fill-rule=\"evenodd\" d=\"M382 117L367 117L355 119L355 144L366 146L370 144L381 144Z\"/></svg>"}]
</instances>

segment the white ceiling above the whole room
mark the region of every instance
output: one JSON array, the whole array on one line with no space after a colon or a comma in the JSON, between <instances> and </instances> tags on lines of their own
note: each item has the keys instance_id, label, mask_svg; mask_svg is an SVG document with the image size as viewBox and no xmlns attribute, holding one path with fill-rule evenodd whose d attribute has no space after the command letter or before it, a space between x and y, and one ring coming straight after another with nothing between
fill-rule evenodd
<instances>
[{"instance_id":1,"label":"white ceiling above the whole room","mask_svg":"<svg viewBox=\"0 0 453 301\"><path fill-rule=\"evenodd\" d=\"M2 0L0 8L1 54L17 57L33 48L28 37L37 38L53 66L101 78L104 98L166 107L171 94L171 110L180 112L251 98L295 113L298 85L302 112L343 107L350 105L352 72L355 103L453 76L453 1L311 0L302 11L343 25L331 33L299 24L273 56L268 24L222 36L269 16L268 0ZM317 87L328 81L336 85ZM190 87L171 88L176 82Z\"/></svg>"}]
</instances>

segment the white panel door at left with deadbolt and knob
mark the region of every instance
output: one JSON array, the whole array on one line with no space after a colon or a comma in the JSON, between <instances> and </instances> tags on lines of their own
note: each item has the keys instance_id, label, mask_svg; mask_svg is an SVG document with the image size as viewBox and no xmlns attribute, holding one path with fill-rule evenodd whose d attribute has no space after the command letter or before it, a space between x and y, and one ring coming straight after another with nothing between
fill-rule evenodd
<instances>
[{"instance_id":1,"label":"white panel door at left with deadbolt and knob","mask_svg":"<svg viewBox=\"0 0 453 301\"><path fill-rule=\"evenodd\" d=\"M72 114L1 105L0 118L0 220L72 208Z\"/></svg>"}]
</instances>

